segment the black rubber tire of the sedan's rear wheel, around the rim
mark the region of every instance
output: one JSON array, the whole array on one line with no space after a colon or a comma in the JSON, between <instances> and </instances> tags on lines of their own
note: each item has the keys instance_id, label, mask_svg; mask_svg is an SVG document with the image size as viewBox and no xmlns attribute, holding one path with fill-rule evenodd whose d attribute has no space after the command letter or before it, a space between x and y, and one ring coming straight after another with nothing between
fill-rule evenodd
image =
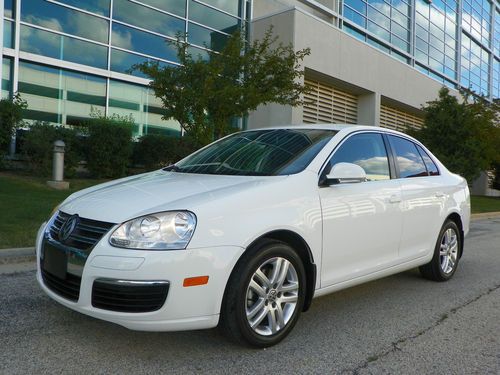
<instances>
[{"instance_id":1,"label":"black rubber tire of the sedan's rear wheel, around the rim","mask_svg":"<svg viewBox=\"0 0 500 375\"><path fill-rule=\"evenodd\" d=\"M456 239L456 244L453 246L455 254L454 261L452 262L450 261L450 259L448 260L450 263L453 263L453 266L451 266L451 268L447 263L445 267L446 260L444 259L444 257L447 257L448 255L443 255L441 252L442 246L445 246L444 244L444 242L446 241L445 236L447 232L450 233L450 231L451 233L453 233L453 236ZM453 221L447 220L444 223L443 227L441 228L441 231L439 232L432 260L429 263L419 267L420 273L422 274L423 277L429 280L448 281L453 277L453 275L457 271L461 248L462 248L462 237L460 235L460 229ZM445 250L443 249L443 252L444 251ZM451 249L449 250L449 254L450 254L449 256L453 258Z\"/></svg>"}]
</instances>

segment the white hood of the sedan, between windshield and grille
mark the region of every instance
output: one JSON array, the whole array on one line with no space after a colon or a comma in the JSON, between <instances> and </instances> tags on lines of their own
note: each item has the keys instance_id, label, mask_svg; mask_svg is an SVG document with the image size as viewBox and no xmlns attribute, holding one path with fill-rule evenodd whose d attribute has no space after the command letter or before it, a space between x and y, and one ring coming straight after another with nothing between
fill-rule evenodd
<instances>
[{"instance_id":1,"label":"white hood of the sedan, between windshield and grille","mask_svg":"<svg viewBox=\"0 0 500 375\"><path fill-rule=\"evenodd\" d=\"M153 212L193 209L197 202L217 199L283 177L201 175L160 170L79 191L69 196L60 210L93 220L121 223Z\"/></svg>"}]
</instances>

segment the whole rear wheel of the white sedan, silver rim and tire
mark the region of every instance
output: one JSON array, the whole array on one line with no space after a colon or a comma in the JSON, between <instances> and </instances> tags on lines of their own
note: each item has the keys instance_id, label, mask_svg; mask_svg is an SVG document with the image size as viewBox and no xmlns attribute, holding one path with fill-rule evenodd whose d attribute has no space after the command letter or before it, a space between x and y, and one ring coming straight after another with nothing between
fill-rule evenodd
<instances>
[{"instance_id":1,"label":"whole rear wheel of the white sedan, silver rim and tire","mask_svg":"<svg viewBox=\"0 0 500 375\"><path fill-rule=\"evenodd\" d=\"M422 275L434 281L451 279L458 267L461 245L460 231L457 225L448 220L439 232L432 260L420 267Z\"/></svg>"}]
</instances>

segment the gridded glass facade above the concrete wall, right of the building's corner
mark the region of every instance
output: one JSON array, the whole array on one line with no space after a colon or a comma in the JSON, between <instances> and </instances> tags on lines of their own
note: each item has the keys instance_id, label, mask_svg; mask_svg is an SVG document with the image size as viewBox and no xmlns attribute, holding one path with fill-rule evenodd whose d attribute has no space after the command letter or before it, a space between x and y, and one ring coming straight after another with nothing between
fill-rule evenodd
<instances>
[{"instance_id":1,"label":"gridded glass facade above the concrete wall, right of the building's corner","mask_svg":"<svg viewBox=\"0 0 500 375\"><path fill-rule=\"evenodd\" d=\"M443 84L500 97L497 0L344 0L342 28Z\"/></svg>"}]
</instances>

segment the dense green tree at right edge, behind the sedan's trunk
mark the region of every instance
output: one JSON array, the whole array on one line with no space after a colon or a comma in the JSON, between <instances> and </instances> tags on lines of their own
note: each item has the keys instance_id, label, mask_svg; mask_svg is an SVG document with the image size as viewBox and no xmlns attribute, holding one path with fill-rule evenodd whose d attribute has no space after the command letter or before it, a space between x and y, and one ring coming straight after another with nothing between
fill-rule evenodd
<instances>
[{"instance_id":1,"label":"dense green tree at right edge, behind the sedan's trunk","mask_svg":"<svg viewBox=\"0 0 500 375\"><path fill-rule=\"evenodd\" d=\"M469 184L500 161L498 104L462 91L462 100L447 88L422 109L425 122L412 134Z\"/></svg>"}]
</instances>

